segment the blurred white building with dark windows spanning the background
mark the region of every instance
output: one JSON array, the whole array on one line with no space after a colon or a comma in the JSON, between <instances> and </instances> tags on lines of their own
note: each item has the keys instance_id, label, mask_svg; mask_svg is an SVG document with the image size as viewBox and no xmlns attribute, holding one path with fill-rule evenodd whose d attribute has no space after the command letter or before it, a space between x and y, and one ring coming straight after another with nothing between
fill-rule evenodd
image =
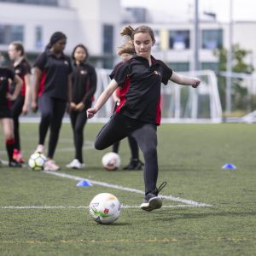
<instances>
[{"instance_id":1,"label":"blurred white building with dark windows spanning the background","mask_svg":"<svg viewBox=\"0 0 256 256\"><path fill-rule=\"evenodd\" d=\"M19 40L33 59L49 42L55 31L67 35L66 53L76 44L85 44L96 67L112 68L116 49L122 41L119 32L127 24L148 24L154 29L154 56L177 71L193 69L195 29L193 20L160 22L147 9L124 9L120 0L0 0L0 51L6 54L11 41ZM137 22L137 23L135 23ZM139 22L139 23L138 23ZM256 67L256 22L234 22L233 44L251 51L248 64ZM198 37L201 69L218 70L214 49L229 49L230 25L201 19Z\"/></svg>"}]
</instances>

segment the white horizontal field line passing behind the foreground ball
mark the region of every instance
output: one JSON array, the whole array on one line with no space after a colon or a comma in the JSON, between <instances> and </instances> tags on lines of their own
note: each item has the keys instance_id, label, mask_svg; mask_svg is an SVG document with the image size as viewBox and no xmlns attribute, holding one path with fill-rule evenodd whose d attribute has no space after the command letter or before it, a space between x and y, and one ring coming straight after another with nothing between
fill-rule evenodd
<instances>
[{"instance_id":1,"label":"white horizontal field line passing behind the foreground ball","mask_svg":"<svg viewBox=\"0 0 256 256\"><path fill-rule=\"evenodd\" d=\"M162 208L179 208L179 207L198 207L198 206L192 206L192 205L176 205L176 206L162 206ZM128 205L121 205L122 209L138 209L140 206L128 206ZM31 210L31 209L89 209L89 207L85 206L26 206L26 207L0 207L0 210Z\"/></svg>"}]
</instances>

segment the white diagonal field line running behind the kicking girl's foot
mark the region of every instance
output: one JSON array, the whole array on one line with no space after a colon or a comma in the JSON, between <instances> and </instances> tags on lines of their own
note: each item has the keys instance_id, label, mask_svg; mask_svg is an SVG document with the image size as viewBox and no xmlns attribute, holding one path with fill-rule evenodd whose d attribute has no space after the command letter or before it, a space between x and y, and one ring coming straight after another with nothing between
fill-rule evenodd
<instances>
[{"instance_id":1,"label":"white diagonal field line running behind the kicking girl's foot","mask_svg":"<svg viewBox=\"0 0 256 256\"><path fill-rule=\"evenodd\" d=\"M78 180L78 181L86 180L89 183L99 185L99 186L102 186L102 187L111 188L111 189L119 189L119 190L124 190L124 191L129 191L129 192L135 192L135 193L141 194L141 195L144 195L144 193L145 193L143 190L131 189L131 188L127 188L127 187L123 187L123 186L115 185L115 184L111 184L111 183L103 183L103 182L99 182L99 181L96 181L96 180L87 179L87 178L84 178L84 177L73 176L73 175L70 175L70 174L67 174L67 173L63 173L63 172L47 172L47 171L44 171L44 173L55 175L55 176L58 176L58 177L67 177L67 178ZM187 200L187 199L183 199L183 198L179 198L179 197L174 197L172 195L160 195L160 196L162 198L166 199L166 200L182 202L184 204L187 204L187 205L193 206L193 207L212 207L212 205L207 205L203 202L191 201L191 200Z\"/></svg>"}]
</instances>

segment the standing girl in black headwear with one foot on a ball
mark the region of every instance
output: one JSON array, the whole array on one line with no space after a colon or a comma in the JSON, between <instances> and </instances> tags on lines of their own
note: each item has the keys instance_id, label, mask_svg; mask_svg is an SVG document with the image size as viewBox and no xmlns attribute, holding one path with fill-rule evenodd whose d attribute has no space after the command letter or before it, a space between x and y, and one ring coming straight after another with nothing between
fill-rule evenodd
<instances>
[{"instance_id":1,"label":"standing girl in black headwear with one foot on a ball","mask_svg":"<svg viewBox=\"0 0 256 256\"><path fill-rule=\"evenodd\" d=\"M41 121L39 125L39 142L36 152L44 152L44 141L49 133L48 160L45 171L57 171L53 156L58 142L61 121L71 102L72 65L63 50L67 37L62 32L55 32L49 40L45 51L38 55L34 63L34 86L32 91L32 110L39 107Z\"/></svg>"}]
</instances>

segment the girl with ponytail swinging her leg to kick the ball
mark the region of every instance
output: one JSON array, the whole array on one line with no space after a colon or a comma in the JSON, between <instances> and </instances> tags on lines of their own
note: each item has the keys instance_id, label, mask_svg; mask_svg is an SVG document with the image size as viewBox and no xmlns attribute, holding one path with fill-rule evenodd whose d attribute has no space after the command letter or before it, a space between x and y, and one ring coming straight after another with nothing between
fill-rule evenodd
<instances>
[{"instance_id":1,"label":"girl with ponytail swinging her leg to kick the ball","mask_svg":"<svg viewBox=\"0 0 256 256\"><path fill-rule=\"evenodd\" d=\"M177 84L197 87L200 79L179 75L167 67L163 61L151 55L155 44L154 32L149 26L133 29L126 26L121 35L129 38L134 45L136 55L123 62L111 73L108 87L99 96L93 108L87 109L87 117L92 118L102 108L118 86L127 86L125 97L115 109L108 124L102 127L95 142L95 148L102 150L124 137L135 137L143 151L145 167L143 171L145 197L141 208L152 211L162 206L158 195L166 183L156 187L158 178L157 126L160 125L160 85L169 80ZM128 83L126 85L126 83Z\"/></svg>"}]
</instances>

